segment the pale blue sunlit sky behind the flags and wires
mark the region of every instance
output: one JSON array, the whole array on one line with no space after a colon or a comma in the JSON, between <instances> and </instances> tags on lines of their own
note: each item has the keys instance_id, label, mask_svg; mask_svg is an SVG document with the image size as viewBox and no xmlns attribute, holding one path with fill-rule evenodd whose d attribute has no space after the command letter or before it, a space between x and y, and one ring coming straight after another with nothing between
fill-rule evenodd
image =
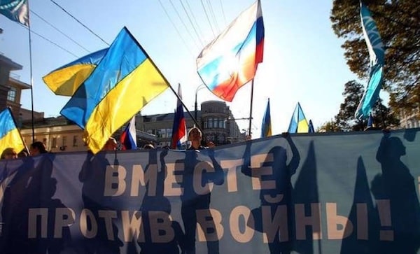
<instances>
[{"instance_id":1,"label":"pale blue sunlit sky behind the flags and wires","mask_svg":"<svg viewBox=\"0 0 420 254\"><path fill-rule=\"evenodd\" d=\"M181 83L184 104L192 114L195 92L201 84L195 66L197 55L204 45L214 39L215 34L227 27L242 10L254 2L55 1L109 44L120 29L126 26L174 90ZM110 4L111 2L114 4ZM194 28L181 3L190 14ZM214 15L211 14L208 3L211 3ZM206 7L211 26L202 4ZM331 28L329 17L332 1L261 0L261 4L265 24L265 52L264 62L258 66L254 81L253 137L260 136L267 98L270 98L273 134L280 134L288 129L297 102L300 102L306 118L311 119L317 128L338 113L339 105L344 101L344 84L357 79L346 66L344 51L340 47L342 40L335 36ZM34 110L45 112L47 117L57 116L68 98L50 92L42 77L59 66L108 45L50 0L30 1L29 8L36 13L31 13L30 16L31 29L66 49L63 50L35 34L31 37ZM83 48L53 29L38 15ZM16 71L15 74L23 82L30 83L28 30L2 15L0 27L3 29L3 34L0 34L0 52L24 66L22 71ZM361 82L365 85L365 81ZM237 92L232 102L227 102L235 118L249 117L250 98L251 83L248 83ZM219 99L207 89L199 90L199 105L201 101L207 100ZM29 90L23 93L22 106L31 108ZM176 97L168 89L151 101L142 110L142 114L170 113L174 112L175 107ZM237 123L241 129L248 129L248 120L237 120Z\"/></svg>"}]
</instances>

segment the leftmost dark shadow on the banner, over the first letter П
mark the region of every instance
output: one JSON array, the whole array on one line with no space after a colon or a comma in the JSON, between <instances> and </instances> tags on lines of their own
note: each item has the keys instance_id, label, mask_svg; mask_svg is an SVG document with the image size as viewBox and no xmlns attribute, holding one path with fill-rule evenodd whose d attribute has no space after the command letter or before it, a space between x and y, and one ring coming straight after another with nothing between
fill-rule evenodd
<instances>
[{"instance_id":1,"label":"leftmost dark shadow on the banner, over the first letter \u041f","mask_svg":"<svg viewBox=\"0 0 420 254\"><path fill-rule=\"evenodd\" d=\"M66 206L61 200L52 198L57 186L57 180L52 178L54 158L52 153L45 153L36 160L25 157L24 164L8 183L1 210L5 221L1 253L60 253L71 241L69 226L59 229L61 233L55 236L56 212L65 210ZM46 229L43 223L30 221L34 220L30 209L39 208L48 211Z\"/></svg>"}]
</instances>

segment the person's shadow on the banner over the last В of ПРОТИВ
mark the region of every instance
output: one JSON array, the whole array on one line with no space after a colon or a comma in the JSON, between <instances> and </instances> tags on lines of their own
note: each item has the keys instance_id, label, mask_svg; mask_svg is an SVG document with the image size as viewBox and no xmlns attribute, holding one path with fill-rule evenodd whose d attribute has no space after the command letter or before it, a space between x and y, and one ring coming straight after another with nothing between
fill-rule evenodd
<instances>
[{"instance_id":1,"label":"person's shadow on the banner over the last \u0412 of \u041f\u0420\u041e\u0422\u0418\u0412","mask_svg":"<svg viewBox=\"0 0 420 254\"><path fill-rule=\"evenodd\" d=\"M140 254L150 253L183 253L184 233L181 225L172 220L171 203L164 196L165 178L167 168L165 156L167 149L160 151L160 169L158 169L158 150L149 150L149 164L145 167L145 174L148 171L157 171L155 184L146 185L146 193L141 204L141 221L144 232L144 241L138 241L141 248ZM155 174L152 172L152 174ZM156 225L170 224L170 230L156 230Z\"/></svg>"}]
</instances>

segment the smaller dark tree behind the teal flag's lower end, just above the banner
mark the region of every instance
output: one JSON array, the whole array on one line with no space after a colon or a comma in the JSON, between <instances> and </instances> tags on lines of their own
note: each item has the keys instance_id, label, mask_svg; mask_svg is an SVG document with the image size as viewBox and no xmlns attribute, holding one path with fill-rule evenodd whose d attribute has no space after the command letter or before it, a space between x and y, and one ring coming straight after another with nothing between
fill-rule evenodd
<instances>
[{"instance_id":1,"label":"smaller dark tree behind the teal flag's lower end, just above the banner","mask_svg":"<svg viewBox=\"0 0 420 254\"><path fill-rule=\"evenodd\" d=\"M339 106L339 112L335 115L335 126L337 129L348 131L362 131L365 129L367 122L356 119L354 113L363 96L363 85L351 80L344 85L344 102ZM379 98L372 108L373 122L377 127L395 127L399 125L399 120L395 118L394 113L390 108L382 104L382 99Z\"/></svg>"}]
</instances>

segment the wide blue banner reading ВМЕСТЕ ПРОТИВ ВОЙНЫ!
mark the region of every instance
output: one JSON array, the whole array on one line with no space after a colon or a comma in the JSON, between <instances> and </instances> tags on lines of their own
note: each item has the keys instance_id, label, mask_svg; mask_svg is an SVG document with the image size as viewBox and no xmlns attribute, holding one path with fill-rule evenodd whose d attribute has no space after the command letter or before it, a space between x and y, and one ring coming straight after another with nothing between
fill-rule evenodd
<instances>
[{"instance_id":1,"label":"wide blue banner reading \u0412\u041c\u0415\u0421\u0422\u0415 \u041f\u0420\u041e\u0422\u0418\u0412 \u0412\u041e\u0419\u041d\u042b!","mask_svg":"<svg viewBox=\"0 0 420 254\"><path fill-rule=\"evenodd\" d=\"M420 129L0 161L0 253L419 253Z\"/></svg>"}]
</instances>

